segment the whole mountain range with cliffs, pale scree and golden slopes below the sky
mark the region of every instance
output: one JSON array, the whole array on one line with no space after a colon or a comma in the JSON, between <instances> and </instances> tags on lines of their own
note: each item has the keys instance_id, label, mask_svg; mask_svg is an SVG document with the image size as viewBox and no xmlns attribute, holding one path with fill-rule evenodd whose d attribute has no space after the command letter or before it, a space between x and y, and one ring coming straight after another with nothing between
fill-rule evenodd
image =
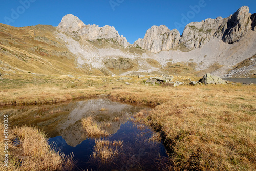
<instances>
[{"instance_id":1,"label":"whole mountain range with cliffs, pale scree and golden slopes below the sky","mask_svg":"<svg viewBox=\"0 0 256 171\"><path fill-rule=\"evenodd\" d=\"M182 35L152 26L129 44L114 27L72 14L57 27L0 24L0 73L256 78L255 25L256 14L243 6L227 18L191 22Z\"/></svg>"}]
</instances>

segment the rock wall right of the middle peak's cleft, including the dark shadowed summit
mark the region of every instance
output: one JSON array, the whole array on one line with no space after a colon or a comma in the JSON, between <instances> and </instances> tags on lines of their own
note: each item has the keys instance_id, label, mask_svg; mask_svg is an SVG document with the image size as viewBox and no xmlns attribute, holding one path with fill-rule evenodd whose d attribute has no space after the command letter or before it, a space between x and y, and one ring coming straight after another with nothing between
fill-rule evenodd
<instances>
[{"instance_id":1,"label":"rock wall right of the middle peak's cleft, including the dark shadowed summit","mask_svg":"<svg viewBox=\"0 0 256 171\"><path fill-rule=\"evenodd\" d=\"M255 27L255 17L251 17L249 7L243 6L227 18L217 17L202 22L189 23L181 37L180 45L188 49L201 48L211 38L221 38L225 43L233 44ZM253 24L254 22L254 24Z\"/></svg>"}]
</instances>

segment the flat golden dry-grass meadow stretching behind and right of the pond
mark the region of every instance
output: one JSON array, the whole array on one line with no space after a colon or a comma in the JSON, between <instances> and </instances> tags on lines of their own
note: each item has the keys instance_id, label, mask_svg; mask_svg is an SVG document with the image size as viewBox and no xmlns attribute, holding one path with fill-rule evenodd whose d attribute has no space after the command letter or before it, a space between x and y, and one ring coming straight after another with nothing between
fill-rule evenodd
<instances>
[{"instance_id":1,"label":"flat golden dry-grass meadow stretching behind and right of the pond","mask_svg":"<svg viewBox=\"0 0 256 171\"><path fill-rule=\"evenodd\" d=\"M154 106L136 118L161 133L175 169L256 169L255 86L174 88L146 86L135 76L123 81L118 78L8 76L0 82L0 104L48 103L106 94L112 100ZM175 80L188 82L188 77Z\"/></svg>"}]
</instances>

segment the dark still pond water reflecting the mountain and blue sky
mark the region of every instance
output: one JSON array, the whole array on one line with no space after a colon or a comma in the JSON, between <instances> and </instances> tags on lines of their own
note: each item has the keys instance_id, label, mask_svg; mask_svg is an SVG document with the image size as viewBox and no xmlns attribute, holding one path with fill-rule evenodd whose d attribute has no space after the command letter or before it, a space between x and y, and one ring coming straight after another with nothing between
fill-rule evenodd
<instances>
[{"instance_id":1,"label":"dark still pond water reflecting the mountain and blue sky","mask_svg":"<svg viewBox=\"0 0 256 171\"><path fill-rule=\"evenodd\" d=\"M92 99L58 105L0 109L0 116L9 115L12 127L33 125L47 133L49 143L66 155L74 154L75 170L163 170L168 160L160 141L151 141L154 131L134 123L132 115L144 107ZM149 110L149 109L148 109ZM107 137L88 137L81 119L92 117ZM122 141L122 147L111 162L92 157L96 140Z\"/></svg>"}]
</instances>

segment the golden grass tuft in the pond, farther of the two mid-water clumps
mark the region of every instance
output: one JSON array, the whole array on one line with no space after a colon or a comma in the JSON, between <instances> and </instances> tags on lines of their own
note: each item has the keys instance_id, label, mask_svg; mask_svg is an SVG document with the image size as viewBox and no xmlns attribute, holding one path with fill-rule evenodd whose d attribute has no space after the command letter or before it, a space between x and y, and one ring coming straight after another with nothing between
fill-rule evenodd
<instances>
[{"instance_id":1,"label":"golden grass tuft in the pond, farther of the two mid-water clumps","mask_svg":"<svg viewBox=\"0 0 256 171\"><path fill-rule=\"evenodd\" d=\"M101 129L94 121L92 116L83 118L81 120L82 126L88 137L106 137L109 136L105 130Z\"/></svg>"}]
</instances>

